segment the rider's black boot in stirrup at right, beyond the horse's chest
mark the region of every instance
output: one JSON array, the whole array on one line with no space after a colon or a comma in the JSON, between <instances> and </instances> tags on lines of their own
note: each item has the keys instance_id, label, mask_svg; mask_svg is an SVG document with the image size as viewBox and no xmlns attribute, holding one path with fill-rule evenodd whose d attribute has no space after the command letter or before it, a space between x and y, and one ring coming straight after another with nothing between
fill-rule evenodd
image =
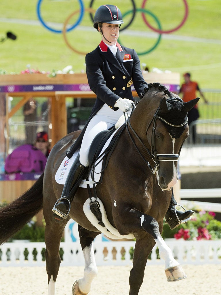
<instances>
[{"instance_id":1,"label":"rider's black boot in stirrup at right, beyond the horse's chest","mask_svg":"<svg viewBox=\"0 0 221 295\"><path fill-rule=\"evenodd\" d=\"M185 212L178 211L176 210L176 206L182 207L181 205L177 204L172 191L169 209L165 214L166 223L169 225L171 230L178 227L180 224L187 222L194 213L194 211L192 210L188 210Z\"/></svg>"}]
</instances>

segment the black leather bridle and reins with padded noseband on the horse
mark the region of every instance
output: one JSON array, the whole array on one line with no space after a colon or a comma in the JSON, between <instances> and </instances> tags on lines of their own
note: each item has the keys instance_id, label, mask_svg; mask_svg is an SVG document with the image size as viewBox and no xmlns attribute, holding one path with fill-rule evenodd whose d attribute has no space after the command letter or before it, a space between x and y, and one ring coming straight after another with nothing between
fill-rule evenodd
<instances>
[{"instance_id":1,"label":"black leather bridle and reins with padded noseband on the horse","mask_svg":"<svg viewBox=\"0 0 221 295\"><path fill-rule=\"evenodd\" d=\"M182 101L182 99L179 99L179 98L169 98L166 100L167 102L170 102L170 101ZM132 112L134 110L134 105L132 106ZM156 120L159 119L161 121L163 121L164 123L166 123L167 125L171 126L171 127L184 127L186 124L187 124L187 120L185 120L184 123L180 124L180 125L174 125L174 124L171 124L170 122L166 121L164 118L160 117L159 116L159 111L160 111L160 107L157 108L156 112L154 113L154 116L153 118L151 119L148 127L146 128L146 135L147 135L147 131L149 129L149 127L151 126L151 124L153 123L153 127L152 127L152 133L151 133L151 150L149 150L145 145L144 143L141 141L140 137L136 134L135 130L133 129L133 127L131 126L131 122L130 122L130 117L128 115L128 112L127 112L127 119L126 119L126 114L124 112L124 117L125 117L125 121L126 121L126 130L128 132L128 135L134 145L134 147L136 148L138 154L141 156L141 158L144 160L144 162L147 164L147 166L149 167L150 171L155 174L156 171L158 170L158 167L159 167L159 161L169 161L169 162L172 162L172 161L175 161L177 162L178 159L179 159L179 154L180 154L180 151L181 151L181 148L182 148L182 145L180 147L180 150L179 150L179 153L178 154L157 154L156 152L156 134L155 134L155 131L156 131ZM131 112L131 114L132 114ZM151 164L149 163L148 160L146 160L144 158L144 156L141 154L141 152L139 151L136 143L134 142L131 134L130 134L130 131L128 129L128 126L130 127L131 131L133 132L133 134L135 135L135 137L138 139L138 141L140 142L140 144L143 146L144 150L147 151L148 155L150 156L150 158L154 161L155 165L154 165L154 168L152 168Z\"/></svg>"}]
</instances>

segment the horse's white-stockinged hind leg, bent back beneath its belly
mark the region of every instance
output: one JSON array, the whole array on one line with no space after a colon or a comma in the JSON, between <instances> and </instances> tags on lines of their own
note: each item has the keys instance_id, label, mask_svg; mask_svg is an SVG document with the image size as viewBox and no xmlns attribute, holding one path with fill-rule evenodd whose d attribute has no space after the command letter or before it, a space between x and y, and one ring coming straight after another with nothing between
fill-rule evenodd
<instances>
[{"instance_id":1,"label":"horse's white-stockinged hind leg, bent back beneath its belly","mask_svg":"<svg viewBox=\"0 0 221 295\"><path fill-rule=\"evenodd\" d=\"M90 292L91 283L98 273L93 250L93 240L100 232L91 232L78 225L80 244L85 259L84 276L75 281L72 287L72 295L87 295Z\"/></svg>"}]
</instances>

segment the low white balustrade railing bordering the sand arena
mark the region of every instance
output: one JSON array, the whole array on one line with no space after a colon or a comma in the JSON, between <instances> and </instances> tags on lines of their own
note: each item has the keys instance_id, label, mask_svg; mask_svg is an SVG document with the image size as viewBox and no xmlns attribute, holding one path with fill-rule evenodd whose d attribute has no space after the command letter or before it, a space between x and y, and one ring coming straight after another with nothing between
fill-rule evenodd
<instances>
[{"instance_id":1,"label":"low white balustrade railing bordering the sand arena","mask_svg":"<svg viewBox=\"0 0 221 295\"><path fill-rule=\"evenodd\" d=\"M184 241L167 239L174 258L181 264L221 263L221 240ZM132 265L131 249L134 241L94 242L95 259L101 265ZM61 266L83 266L84 257L79 242L61 242ZM44 242L5 243L0 246L0 267L44 266ZM147 264L164 264L157 255L155 245Z\"/></svg>"}]
</instances>

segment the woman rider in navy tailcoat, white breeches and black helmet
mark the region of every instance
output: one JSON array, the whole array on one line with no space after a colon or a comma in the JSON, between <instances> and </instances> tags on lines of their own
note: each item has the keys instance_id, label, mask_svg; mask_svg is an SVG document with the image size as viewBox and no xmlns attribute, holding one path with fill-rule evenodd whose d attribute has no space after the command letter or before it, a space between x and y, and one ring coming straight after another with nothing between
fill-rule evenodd
<instances>
[{"instance_id":1,"label":"woman rider in navy tailcoat, white breeches and black helmet","mask_svg":"<svg viewBox=\"0 0 221 295\"><path fill-rule=\"evenodd\" d=\"M75 150L80 146L80 152L68 173L62 197L52 209L54 220L58 223L66 219L70 211L70 203L88 167L88 152L94 137L115 125L122 112L131 114L134 104L130 87L132 81L138 96L148 87L136 51L117 42L121 24L122 14L117 6L101 5L96 10L94 27L100 32L102 40L95 50L86 55L85 61L88 84L97 98L88 122L73 146ZM76 190L71 197L67 197L76 183ZM175 221L179 225L177 215L179 220L186 222L193 211L176 211L176 201L172 199L166 218L172 218L173 224Z\"/></svg>"}]
</instances>

